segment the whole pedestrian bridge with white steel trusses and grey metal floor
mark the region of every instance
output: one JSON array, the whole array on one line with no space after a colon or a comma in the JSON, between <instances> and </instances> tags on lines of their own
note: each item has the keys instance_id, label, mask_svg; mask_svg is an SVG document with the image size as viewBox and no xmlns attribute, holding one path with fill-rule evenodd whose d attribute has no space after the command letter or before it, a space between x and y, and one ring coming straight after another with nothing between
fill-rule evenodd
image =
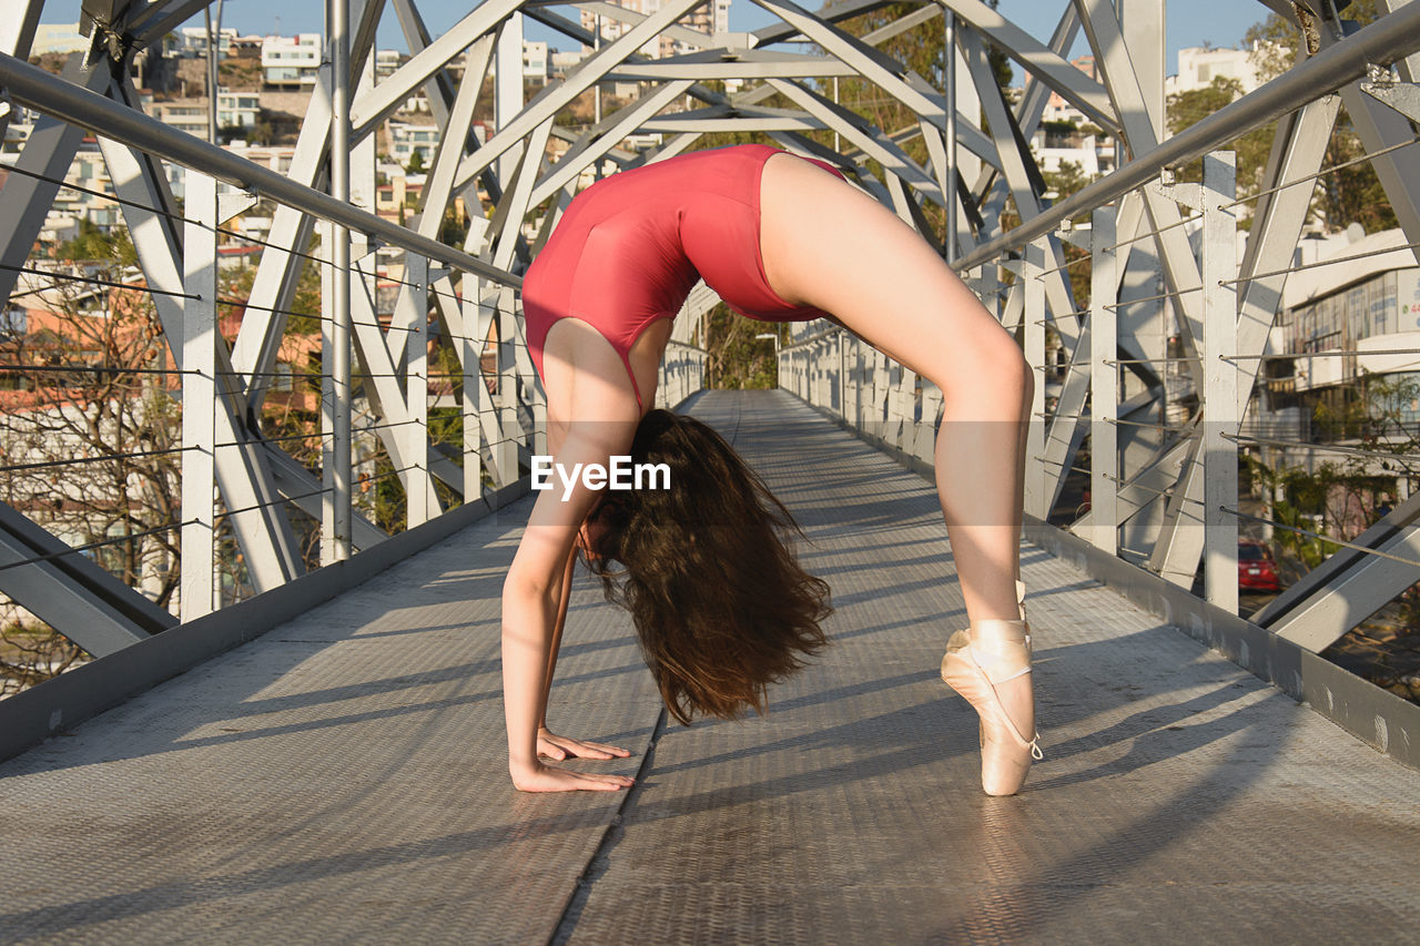
<instances>
[{"instance_id":1,"label":"whole pedestrian bridge with white steel trusses and grey metal floor","mask_svg":"<svg viewBox=\"0 0 1420 946\"><path fill-rule=\"evenodd\" d=\"M1414 939L1420 705L1390 690L1420 673L1321 653L1420 582L1420 1L1251 4L1285 62L1179 131L1163 0L754 0L753 33L701 0L327 0L284 149L213 143L220 95L206 138L145 111L197 14L220 87L220 1L71 3L62 75L31 61L60 4L10 6L0 638L95 659L0 702L0 940ZM541 91L525 27L582 50ZM379 153L409 108L422 182ZM799 517L834 646L764 719L667 726L584 580L552 723L638 784L508 784L498 594L547 453L521 274L592 180L727 135L890 207L1037 372L1020 797L980 793L937 678L941 392L824 322L726 328L703 286L659 403ZM1389 229L1340 233L1350 193ZM51 254L84 214L131 253ZM778 391L706 391L731 351ZM1285 509L1328 464L1340 513ZM1247 538L1306 568L1244 616Z\"/></svg>"}]
</instances>

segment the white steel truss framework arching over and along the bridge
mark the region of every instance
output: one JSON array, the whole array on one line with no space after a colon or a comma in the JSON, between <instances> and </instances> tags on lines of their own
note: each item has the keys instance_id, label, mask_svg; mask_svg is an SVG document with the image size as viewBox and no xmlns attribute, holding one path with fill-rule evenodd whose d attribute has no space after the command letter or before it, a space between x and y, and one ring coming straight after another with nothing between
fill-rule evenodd
<instances>
[{"instance_id":1,"label":"white steel truss framework arching over and along the bridge","mask_svg":"<svg viewBox=\"0 0 1420 946\"><path fill-rule=\"evenodd\" d=\"M680 23L699 0L670 0L649 16L592 0L561 7L483 0L437 37L425 26L419 0L328 1L339 14L328 17L328 61L284 175L260 173L220 149L152 128L138 114L128 64L200 13L207 6L202 0L85 3L94 48L71 62L62 88L41 81L24 64L41 1L27 0L14 23L0 26L0 51L11 54L0 57L0 85L10 101L43 115L20 156L20 168L31 175L11 175L0 190L0 213L13 222L0 234L0 263L23 266L57 193L47 180L64 178L80 145L78 128L89 126L99 131L109 176L125 200L146 286L169 293L153 298L172 358L187 378L185 399L192 401L185 406L185 443L200 447L196 456L185 456L183 470L193 520L185 526L183 547L203 550L193 564L185 561L185 582L196 582L183 595L185 618L200 614L203 601L212 602L210 568L203 584L200 561L210 564L213 489L222 507L231 510L233 534L258 591L305 568L293 530L295 510L324 523L322 562L383 537L358 514L348 523L339 518L351 507L351 460L342 432L349 430L356 389L375 419L369 437L379 440L403 487L410 527L443 511L440 496L476 501L517 482L527 455L545 446L540 429L545 408L520 339L518 274L586 180L667 159L716 132L758 132L842 168L943 249L988 308L1018 332L1041 371L1048 338L1058 339L1068 364L1049 411L1038 395L1030 511L1044 517L1058 504L1088 437L1093 506L1076 531L1181 584L1191 582L1206 558L1208 595L1227 605L1218 575L1235 554L1235 545L1228 551L1228 535L1237 524L1220 520L1217 507L1235 507L1235 496L1214 494L1225 480L1217 474L1227 453L1218 437L1237 432L1305 222L1311 187L1288 182L1318 173L1342 102L1367 151L1413 136L1409 121L1414 115L1406 112L1413 99L1375 81L1366 84L1376 78L1366 74L1369 62L1397 61L1392 84L1413 88L1406 84L1414 81L1420 41L1407 37L1420 36L1420 6L1403 0L1386 0L1392 10L1386 26L1356 36L1333 21L1332 4L1260 4L1258 16L1272 10L1315 28L1315 54L1299 55L1292 75L1174 138L1166 136L1163 116L1163 0L1062 0L1048 41L980 0L909 4L861 36L845 23L882 10L885 1L846 0L808 10L794 0L754 0L775 16L774 24L748 36L710 36ZM388 10L410 58L376 82L373 37ZM574 18L582 11L616 23L619 36L594 37ZM531 101L524 101L521 81L524 20L596 47ZM919 75L883 53L882 44L909 30L950 37L934 75ZM659 36L693 51L648 58L642 48ZM1099 65L1099 80L1066 60L1081 36ZM997 88L990 50L1003 51L1024 71L1018 99ZM836 77L866 80L910 119L903 128L872 126L834 101ZM635 82L638 94L589 128L555 124L574 99L606 81ZM738 91L720 91L719 82L726 81ZM484 141L473 119L480 92L490 87L496 121ZM1054 206L1044 196L1044 175L1028 146L1051 94L1115 139L1120 161L1119 170ZM419 95L430 105L440 145L422 203L400 226L372 213L373 136L402 102ZM1160 182L1160 172L1278 118L1267 196L1254 207L1247 250L1235 260L1210 247L1211 239L1224 239L1235 214L1228 206L1227 161L1210 159L1203 186L1169 185ZM633 149L626 143L633 135L657 135L659 143ZM836 148L829 145L834 141ZM1417 153L1393 151L1376 161L1410 243L1420 243ZM165 162L190 169L180 212ZM212 183L210 195L203 179ZM239 196L230 196L231 187ZM200 209L193 193L206 195ZM275 212L246 317L229 345L210 325L197 331L197 318L210 322L214 315L182 297L210 300L214 227L253 197L274 203ZM446 247L437 243L439 227L456 200L471 209L473 226L464 246ZM1008 212L1020 223L1005 232ZM1061 227L1081 214L1091 214L1093 226ZM1190 216L1203 220L1204 229L1214 227L1208 239L1198 236ZM1075 298L1071 287L1071 244L1093 260L1088 300ZM376 311L373 273L376 260L385 259L376 253L388 257L392 250L403 254L400 286L395 311L385 318ZM331 365L322 369L329 376L324 379L328 436L321 474L267 437L257 420L290 335L297 284L311 266L321 270L324 357ZM14 278L11 270L0 270L0 298L9 297ZM195 291L200 287L207 293ZM696 290L677 320L672 358L662 374L663 401L699 386L703 352L696 330L714 303L713 293ZM433 321L430 311L437 315ZM1176 376L1201 392L1206 406L1201 422L1164 430L1154 422L1166 408L1166 339L1172 334L1180 335L1183 351ZM440 349L460 372L454 386L464 446L453 455L429 442L430 352ZM349 371L342 366L342 351L349 352ZM356 375L364 384L354 384ZM940 393L853 339L814 325L795 327L781 376L785 386L831 406L895 449L930 460ZM210 418L206 409L192 409L207 399ZM359 423L354 436L361 436ZM189 520L186 511L183 518ZM11 580L20 574L28 572L0 571L0 588L21 601L33 598ZM1367 572L1358 565L1348 574ZM77 580L57 581L71 581L75 599L84 591ZM1377 581L1390 587L1394 577L1387 572ZM1325 582L1318 589L1333 592ZM1294 621L1301 614L1294 609ZM1325 632L1316 628L1326 621L1335 629L1335 618L1302 622L1309 625L1306 634L1321 639ZM72 629L72 622L61 626L67 634Z\"/></svg>"}]
</instances>

